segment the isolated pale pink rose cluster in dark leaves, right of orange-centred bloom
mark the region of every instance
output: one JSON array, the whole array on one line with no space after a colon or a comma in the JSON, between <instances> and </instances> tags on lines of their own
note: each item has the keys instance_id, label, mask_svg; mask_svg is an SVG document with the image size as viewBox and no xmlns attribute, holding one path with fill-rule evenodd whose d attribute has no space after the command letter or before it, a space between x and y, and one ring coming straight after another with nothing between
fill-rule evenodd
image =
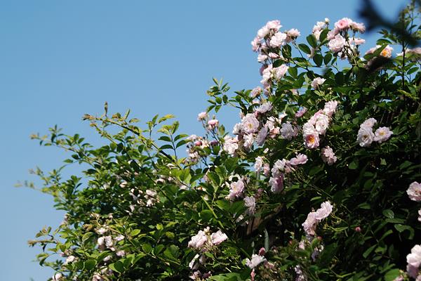
<instances>
[{"instance_id":1,"label":"isolated pale pink rose cluster in dark leaves, right of orange-centred bloom","mask_svg":"<svg viewBox=\"0 0 421 281\"><path fill-rule=\"evenodd\" d=\"M374 118L368 118L360 125L358 135L356 136L356 141L363 148L370 146L373 141L377 143L383 143L387 141L393 132L387 127L380 127L375 132L373 132L373 126L377 123L377 120Z\"/></svg>"}]
</instances>

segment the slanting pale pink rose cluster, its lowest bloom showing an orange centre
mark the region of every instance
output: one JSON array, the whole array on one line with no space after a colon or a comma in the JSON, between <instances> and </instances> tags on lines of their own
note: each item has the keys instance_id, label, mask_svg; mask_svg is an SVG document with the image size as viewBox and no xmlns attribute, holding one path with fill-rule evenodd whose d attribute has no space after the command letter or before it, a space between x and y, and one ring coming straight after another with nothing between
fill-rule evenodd
<instances>
[{"instance_id":1,"label":"slanting pale pink rose cluster, its lowest bloom showing an orange centre","mask_svg":"<svg viewBox=\"0 0 421 281\"><path fill-rule=\"evenodd\" d=\"M325 103L323 110L316 112L302 126L302 136L304 137L304 145L306 148L319 148L320 135L323 136L328 129L330 119L336 112L338 101L328 101Z\"/></svg>"}]
</instances>

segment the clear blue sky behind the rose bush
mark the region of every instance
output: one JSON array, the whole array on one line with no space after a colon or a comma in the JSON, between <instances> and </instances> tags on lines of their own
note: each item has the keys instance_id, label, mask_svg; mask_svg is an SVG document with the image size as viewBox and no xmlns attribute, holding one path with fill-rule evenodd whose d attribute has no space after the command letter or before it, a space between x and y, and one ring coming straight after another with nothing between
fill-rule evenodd
<instances>
[{"instance_id":1,"label":"clear blue sky behind the rose bush","mask_svg":"<svg viewBox=\"0 0 421 281\"><path fill-rule=\"evenodd\" d=\"M377 0L396 18L406 1ZM311 32L317 20L358 18L361 1L0 1L0 280L47 280L48 268L32 262L41 249L27 246L42 226L57 226L63 214L34 190L13 188L36 181L28 170L50 171L66 154L41 148L31 133L58 124L98 143L82 122L85 113L130 108L142 122L172 113L180 131L201 133L198 112L206 108L212 77L232 90L258 86L250 41L268 20ZM376 34L367 34L363 51ZM305 40L305 36L299 38ZM394 52L396 53L396 52ZM237 112L218 115L227 129ZM76 169L74 169L76 171ZM39 183L39 181L36 181Z\"/></svg>"}]
</instances>

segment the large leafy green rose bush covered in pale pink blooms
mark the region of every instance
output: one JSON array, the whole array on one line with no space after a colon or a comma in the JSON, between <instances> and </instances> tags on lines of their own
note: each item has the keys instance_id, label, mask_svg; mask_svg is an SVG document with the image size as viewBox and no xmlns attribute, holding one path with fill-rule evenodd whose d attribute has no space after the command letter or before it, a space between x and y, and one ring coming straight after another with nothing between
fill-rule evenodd
<instances>
[{"instance_id":1,"label":"large leafy green rose bush covered in pale pink blooms","mask_svg":"<svg viewBox=\"0 0 421 281\"><path fill-rule=\"evenodd\" d=\"M396 26L418 38L417 15L409 6ZM363 54L365 27L349 18L304 40L282 28L269 21L251 43L261 86L214 79L201 136L171 115L142 129L107 105L83 117L107 145L33 136L83 167L35 171L66 211L29 242L51 280L421 278L420 48L383 30ZM232 133L222 106L240 112Z\"/></svg>"}]
</instances>

